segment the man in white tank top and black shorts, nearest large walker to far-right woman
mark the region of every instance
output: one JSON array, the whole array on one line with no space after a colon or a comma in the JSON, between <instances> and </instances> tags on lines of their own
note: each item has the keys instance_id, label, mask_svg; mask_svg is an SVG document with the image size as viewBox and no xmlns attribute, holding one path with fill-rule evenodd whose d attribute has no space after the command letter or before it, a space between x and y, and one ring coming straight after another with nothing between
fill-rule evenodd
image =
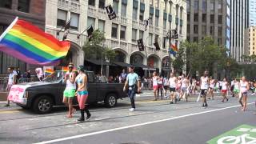
<instances>
[{"instance_id":1,"label":"man in white tank top and black shorts, nearest large walker to far-right woman","mask_svg":"<svg viewBox=\"0 0 256 144\"><path fill-rule=\"evenodd\" d=\"M204 74L202 75L202 77L200 78L200 83L201 83L201 95L202 95L202 107L207 107L208 104L206 102L206 94L207 94L207 90L209 87L209 78L208 78L208 72L205 71Z\"/></svg>"}]
</instances>

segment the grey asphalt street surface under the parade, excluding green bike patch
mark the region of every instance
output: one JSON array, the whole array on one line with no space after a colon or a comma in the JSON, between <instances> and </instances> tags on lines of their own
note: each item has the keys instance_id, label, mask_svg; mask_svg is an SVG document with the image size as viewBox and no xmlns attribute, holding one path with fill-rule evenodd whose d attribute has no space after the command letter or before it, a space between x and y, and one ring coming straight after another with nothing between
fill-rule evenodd
<instances>
[{"instance_id":1,"label":"grey asphalt street surface under the parade, excluding green bike patch","mask_svg":"<svg viewBox=\"0 0 256 144\"><path fill-rule=\"evenodd\" d=\"M128 110L127 98L113 109L90 106L92 118L82 123L75 122L78 111L67 119L66 109L61 107L52 114L38 115L14 104L3 108L1 103L0 143L198 144L238 126L256 126L255 96L249 97L246 112L240 110L237 98L221 102L221 97L215 97L206 109L195 102L196 97L173 105L169 100L152 99L152 94L142 94L134 112Z\"/></svg>"}]
</instances>

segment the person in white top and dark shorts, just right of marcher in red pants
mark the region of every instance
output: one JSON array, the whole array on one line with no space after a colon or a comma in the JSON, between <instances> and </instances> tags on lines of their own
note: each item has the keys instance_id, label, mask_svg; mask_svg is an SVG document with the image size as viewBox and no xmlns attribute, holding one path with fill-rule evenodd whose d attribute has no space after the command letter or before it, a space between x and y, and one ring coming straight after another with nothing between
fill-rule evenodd
<instances>
[{"instance_id":1,"label":"person in white top and dark shorts, just right of marcher in red pants","mask_svg":"<svg viewBox=\"0 0 256 144\"><path fill-rule=\"evenodd\" d=\"M174 101L177 102L175 98L176 83L177 83L177 78L174 76L174 73L170 73L170 78L168 80L168 85L170 88L170 104L173 104Z\"/></svg>"}]
</instances>

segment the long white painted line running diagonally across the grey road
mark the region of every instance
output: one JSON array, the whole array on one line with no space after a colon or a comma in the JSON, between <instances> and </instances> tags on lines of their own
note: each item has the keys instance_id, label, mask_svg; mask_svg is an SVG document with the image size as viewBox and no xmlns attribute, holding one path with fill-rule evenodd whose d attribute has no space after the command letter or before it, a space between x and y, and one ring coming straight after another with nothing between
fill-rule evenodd
<instances>
[{"instance_id":1,"label":"long white painted line running diagonally across the grey road","mask_svg":"<svg viewBox=\"0 0 256 144\"><path fill-rule=\"evenodd\" d=\"M247 105L251 105L251 104L254 104L254 102L250 102ZM150 125L150 124L154 124L154 123L158 123L158 122L166 122L166 121L170 121L170 120L174 120L174 119L178 119L178 118L186 118L186 117L190 117L190 116L194 116L194 115L198 115L198 114L207 114L207 113L211 113L211 112L215 112L215 111L231 109L231 108L238 107L238 106L241 106L241 105L228 106L228 107L215 109L215 110L202 111L202 112L198 112L198 113L194 113L194 114L186 114L186 115L181 115L181 116L177 116L177 117L174 117L174 118L166 118L166 119L162 119L162 120L157 120L157 121L152 121L152 122L144 122L144 123L139 123L139 124L130 125L130 126L122 126L122 127L118 127L118 128L114 128L114 129L101 130L101 131L96 131L96 132L87 133L87 134L78 134L78 135L74 135L74 136L70 136L70 137L66 137L66 138L57 138L57 139L53 139L53 140L50 140L50 141L38 142L38 143L34 143L34 144L46 144L46 143L53 143L53 142L62 142L62 141L66 141L66 140L70 140L70 139L74 139L74 138L82 138L82 137L87 137L87 136L96 135L96 134L103 134L103 133L113 132L113 131L117 131L117 130L124 130L124 129L134 128L134 127L138 127L138 126L146 126L146 125Z\"/></svg>"}]
</instances>

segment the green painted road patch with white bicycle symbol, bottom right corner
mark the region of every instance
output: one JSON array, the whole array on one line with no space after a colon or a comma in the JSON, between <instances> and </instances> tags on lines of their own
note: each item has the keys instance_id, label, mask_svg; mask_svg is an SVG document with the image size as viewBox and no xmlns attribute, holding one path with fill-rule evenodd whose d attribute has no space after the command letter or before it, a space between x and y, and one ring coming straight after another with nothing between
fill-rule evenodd
<instances>
[{"instance_id":1,"label":"green painted road patch with white bicycle symbol, bottom right corner","mask_svg":"<svg viewBox=\"0 0 256 144\"><path fill-rule=\"evenodd\" d=\"M209 144L256 144L256 126L242 125L227 131L216 138L211 139Z\"/></svg>"}]
</instances>

